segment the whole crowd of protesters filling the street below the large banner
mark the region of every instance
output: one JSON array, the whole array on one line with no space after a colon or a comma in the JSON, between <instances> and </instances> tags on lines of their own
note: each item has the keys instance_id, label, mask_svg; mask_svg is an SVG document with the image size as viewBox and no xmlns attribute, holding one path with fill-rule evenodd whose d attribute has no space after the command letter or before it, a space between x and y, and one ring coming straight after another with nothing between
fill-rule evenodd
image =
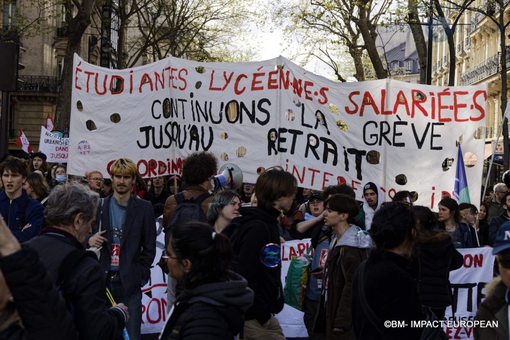
<instances>
[{"instance_id":1,"label":"whole crowd of protesters filling the street below the large banner","mask_svg":"<svg viewBox=\"0 0 510 340\"><path fill-rule=\"evenodd\" d=\"M313 339L419 339L422 328L384 321L425 320L427 310L443 320L453 301L449 272L463 263L459 248L494 246L501 279L479 314L499 320L494 305L508 306L510 192L503 183L479 212L443 197L434 213L414 205L415 192L385 202L373 182L364 183L362 201L345 184L300 188L278 166L256 183L211 192L217 171L208 152L187 157L180 175L150 179L129 158L114 161L110 174L84 169L83 176L48 164L41 152L28 162L4 159L0 338L120 339L127 332L140 339L141 288L160 215L160 263L169 275L163 339L285 339L274 317L284 294L273 255L292 239L310 238L314 249L303 302ZM196 203L203 219L183 220L182 202ZM487 334L475 331L475 338Z\"/></svg>"}]
</instances>

